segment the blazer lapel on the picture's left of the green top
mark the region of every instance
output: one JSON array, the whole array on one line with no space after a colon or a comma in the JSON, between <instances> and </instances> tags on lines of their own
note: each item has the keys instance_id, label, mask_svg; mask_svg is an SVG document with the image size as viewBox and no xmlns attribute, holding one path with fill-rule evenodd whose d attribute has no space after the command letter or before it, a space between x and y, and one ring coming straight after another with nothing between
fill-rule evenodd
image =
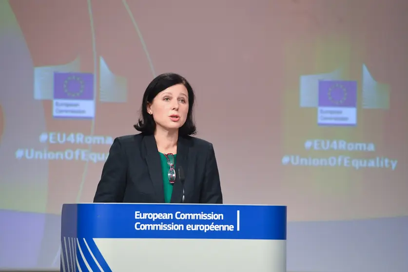
<instances>
[{"instance_id":1,"label":"blazer lapel on the picture's left of the green top","mask_svg":"<svg viewBox=\"0 0 408 272\"><path fill-rule=\"evenodd\" d=\"M146 161L149 168L150 178L155 188L158 203L164 203L163 175L161 174L160 155L157 150L155 136L145 136L146 144Z\"/></svg>"}]
</instances>

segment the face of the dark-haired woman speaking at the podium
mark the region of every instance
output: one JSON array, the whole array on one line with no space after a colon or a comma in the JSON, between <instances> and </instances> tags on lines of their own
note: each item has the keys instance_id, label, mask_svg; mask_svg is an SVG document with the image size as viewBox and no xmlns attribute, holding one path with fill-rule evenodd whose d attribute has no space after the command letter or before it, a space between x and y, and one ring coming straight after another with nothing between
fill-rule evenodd
<instances>
[{"instance_id":1,"label":"face of the dark-haired woman speaking at the podium","mask_svg":"<svg viewBox=\"0 0 408 272\"><path fill-rule=\"evenodd\" d=\"M183 84L173 85L147 105L147 112L153 115L156 125L166 130L178 129L187 119L189 111L188 91Z\"/></svg>"}]
</instances>

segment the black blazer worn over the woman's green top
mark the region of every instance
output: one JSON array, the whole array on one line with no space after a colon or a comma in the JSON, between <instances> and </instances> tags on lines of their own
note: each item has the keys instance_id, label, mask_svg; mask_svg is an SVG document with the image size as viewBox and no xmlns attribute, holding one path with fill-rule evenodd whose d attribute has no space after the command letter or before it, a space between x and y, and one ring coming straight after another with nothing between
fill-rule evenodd
<instances>
[{"instance_id":1,"label":"black blazer worn over the woman's green top","mask_svg":"<svg viewBox=\"0 0 408 272\"><path fill-rule=\"evenodd\" d=\"M179 137L176 180L171 203L222 204L221 185L213 144L196 137ZM163 176L155 137L143 133L115 138L102 169L96 202L164 203Z\"/></svg>"}]
</instances>

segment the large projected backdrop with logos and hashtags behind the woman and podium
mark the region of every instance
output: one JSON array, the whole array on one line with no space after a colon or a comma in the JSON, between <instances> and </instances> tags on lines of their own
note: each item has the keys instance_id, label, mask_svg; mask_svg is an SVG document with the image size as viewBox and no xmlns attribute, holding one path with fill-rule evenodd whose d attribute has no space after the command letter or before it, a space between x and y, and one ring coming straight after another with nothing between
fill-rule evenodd
<instances>
[{"instance_id":1,"label":"large projected backdrop with logos and hashtags behind the woman and podium","mask_svg":"<svg viewBox=\"0 0 408 272\"><path fill-rule=\"evenodd\" d=\"M62 204L176 72L225 203L288 206L288 271L408 271L407 7L0 1L0 269L59 268Z\"/></svg>"}]
</instances>

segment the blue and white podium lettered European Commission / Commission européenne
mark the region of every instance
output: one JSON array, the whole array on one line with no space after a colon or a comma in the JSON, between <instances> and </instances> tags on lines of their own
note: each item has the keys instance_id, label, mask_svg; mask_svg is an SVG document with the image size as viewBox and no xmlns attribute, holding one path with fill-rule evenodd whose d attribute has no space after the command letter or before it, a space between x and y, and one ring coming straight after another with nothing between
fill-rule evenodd
<instances>
[{"instance_id":1,"label":"blue and white podium lettered European Commission / Commission europ\u00e9enne","mask_svg":"<svg viewBox=\"0 0 408 272\"><path fill-rule=\"evenodd\" d=\"M61 272L286 272L286 206L64 204Z\"/></svg>"}]
</instances>

